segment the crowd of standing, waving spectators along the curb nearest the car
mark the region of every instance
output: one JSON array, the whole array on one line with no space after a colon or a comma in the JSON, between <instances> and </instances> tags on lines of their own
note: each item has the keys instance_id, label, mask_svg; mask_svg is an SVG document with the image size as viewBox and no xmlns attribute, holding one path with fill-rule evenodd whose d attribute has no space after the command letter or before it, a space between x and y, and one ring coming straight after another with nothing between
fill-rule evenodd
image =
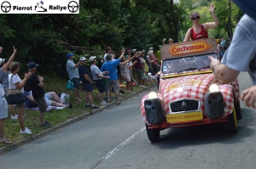
<instances>
[{"instance_id":1,"label":"crowd of standing, waving spectators along the curb nearest the car","mask_svg":"<svg viewBox=\"0 0 256 169\"><path fill-rule=\"evenodd\" d=\"M126 51L125 48L122 48L119 58L116 58L112 48L107 47L106 53L102 57L81 57L78 63L74 63L73 59L74 54L67 54L67 74L75 88L75 99L85 102L85 106L91 109L99 108L93 101L94 87L99 92L102 106L113 99L112 93L117 104L120 104L119 95L122 94L121 92L131 93L135 84L138 84L138 87L146 87L150 83L148 72L154 76L159 70L159 60L154 57L154 48L149 48L148 53L145 50L137 51L135 48ZM87 66L88 63L90 66ZM119 88L120 84L123 83L125 83L125 91ZM84 100L80 97L80 85L85 92Z\"/></svg>"}]
</instances>

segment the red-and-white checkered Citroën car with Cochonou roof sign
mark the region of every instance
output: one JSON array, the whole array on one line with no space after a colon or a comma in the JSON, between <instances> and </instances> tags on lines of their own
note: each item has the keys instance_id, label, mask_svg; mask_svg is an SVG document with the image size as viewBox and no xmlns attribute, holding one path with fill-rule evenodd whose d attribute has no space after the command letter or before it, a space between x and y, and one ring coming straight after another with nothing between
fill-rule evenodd
<instances>
[{"instance_id":1,"label":"red-and-white checkered Citro\u00ebn car with Cochonou roof sign","mask_svg":"<svg viewBox=\"0 0 256 169\"><path fill-rule=\"evenodd\" d=\"M141 112L148 139L157 142L160 131L224 123L237 132L241 119L238 81L219 82L208 56L218 59L214 38L166 44L160 48L159 91L143 96Z\"/></svg>"}]
</instances>

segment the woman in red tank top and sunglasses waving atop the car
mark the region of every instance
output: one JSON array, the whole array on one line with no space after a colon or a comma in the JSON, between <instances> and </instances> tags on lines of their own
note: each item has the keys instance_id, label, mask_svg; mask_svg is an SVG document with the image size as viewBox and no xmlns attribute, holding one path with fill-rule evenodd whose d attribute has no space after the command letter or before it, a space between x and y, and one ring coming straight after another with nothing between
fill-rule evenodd
<instances>
[{"instance_id":1,"label":"woman in red tank top and sunglasses waving atop the car","mask_svg":"<svg viewBox=\"0 0 256 169\"><path fill-rule=\"evenodd\" d=\"M215 6L211 3L209 10L212 14L213 22L200 24L200 14L196 12L190 14L190 19L193 22L193 26L187 31L184 42L188 42L190 38L191 40L208 38L208 30L215 28L219 24L219 20L214 14L214 8Z\"/></svg>"}]
</instances>

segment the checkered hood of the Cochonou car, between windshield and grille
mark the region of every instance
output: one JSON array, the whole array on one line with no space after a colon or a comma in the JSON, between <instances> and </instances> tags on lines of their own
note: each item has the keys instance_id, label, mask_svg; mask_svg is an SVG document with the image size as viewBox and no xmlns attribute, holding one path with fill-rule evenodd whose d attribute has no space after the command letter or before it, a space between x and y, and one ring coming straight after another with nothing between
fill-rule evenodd
<instances>
[{"instance_id":1,"label":"checkered hood of the Cochonou car, between windshield and grille","mask_svg":"<svg viewBox=\"0 0 256 169\"><path fill-rule=\"evenodd\" d=\"M164 99L193 98L203 100L210 85L215 82L213 74L178 76L160 80L159 92Z\"/></svg>"}]
</instances>

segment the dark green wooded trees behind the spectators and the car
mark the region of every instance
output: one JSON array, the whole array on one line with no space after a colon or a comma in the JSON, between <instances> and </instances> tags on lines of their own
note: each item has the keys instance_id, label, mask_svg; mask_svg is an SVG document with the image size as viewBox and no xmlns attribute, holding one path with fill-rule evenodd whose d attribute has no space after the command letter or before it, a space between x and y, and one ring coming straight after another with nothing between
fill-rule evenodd
<instances>
[{"instance_id":1,"label":"dark green wooded trees behind the spectators and the car","mask_svg":"<svg viewBox=\"0 0 256 169\"><path fill-rule=\"evenodd\" d=\"M201 23L212 21L209 3L216 6L220 25L209 37L232 37L242 13L228 0L83 0L80 14L1 14L1 58L9 58L13 46L21 71L34 61L42 73L67 78L66 55L104 54L106 47L158 48L162 39L182 42L192 26L189 14L201 14Z\"/></svg>"}]
</instances>

